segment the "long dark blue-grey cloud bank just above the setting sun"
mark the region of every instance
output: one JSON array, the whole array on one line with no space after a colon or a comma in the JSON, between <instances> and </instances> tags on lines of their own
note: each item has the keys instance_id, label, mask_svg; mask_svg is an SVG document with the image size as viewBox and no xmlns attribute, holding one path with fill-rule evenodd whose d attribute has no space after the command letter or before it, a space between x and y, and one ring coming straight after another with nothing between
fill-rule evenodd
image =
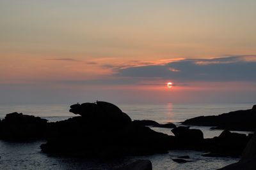
<instances>
[{"instance_id":1,"label":"long dark blue-grey cloud bank just above the setting sun","mask_svg":"<svg viewBox=\"0 0 256 170\"><path fill-rule=\"evenodd\" d=\"M166 64L121 68L116 76L170 78L179 81L256 81L256 61L248 56L184 59ZM256 55L250 55L255 58Z\"/></svg>"}]
</instances>

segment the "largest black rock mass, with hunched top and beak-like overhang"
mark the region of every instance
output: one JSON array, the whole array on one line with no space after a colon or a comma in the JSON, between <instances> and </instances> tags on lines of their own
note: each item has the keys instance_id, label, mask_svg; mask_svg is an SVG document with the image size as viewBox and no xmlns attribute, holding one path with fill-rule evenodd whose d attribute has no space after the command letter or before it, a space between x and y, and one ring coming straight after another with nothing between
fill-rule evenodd
<instances>
[{"instance_id":1,"label":"largest black rock mass, with hunched top and beak-like overhang","mask_svg":"<svg viewBox=\"0 0 256 170\"><path fill-rule=\"evenodd\" d=\"M43 152L88 157L166 153L174 138L134 124L111 103L75 104L70 111L81 117L49 124L51 138L41 146Z\"/></svg>"}]
</instances>

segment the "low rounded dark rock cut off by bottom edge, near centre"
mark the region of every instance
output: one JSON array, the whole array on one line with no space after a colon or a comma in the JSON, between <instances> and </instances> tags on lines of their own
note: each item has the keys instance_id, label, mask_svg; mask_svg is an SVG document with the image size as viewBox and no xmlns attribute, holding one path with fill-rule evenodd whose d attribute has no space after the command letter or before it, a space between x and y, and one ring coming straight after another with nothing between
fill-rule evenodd
<instances>
[{"instance_id":1,"label":"low rounded dark rock cut off by bottom edge, near centre","mask_svg":"<svg viewBox=\"0 0 256 170\"><path fill-rule=\"evenodd\" d=\"M116 170L152 170L152 163L150 160L136 160Z\"/></svg>"}]
</instances>

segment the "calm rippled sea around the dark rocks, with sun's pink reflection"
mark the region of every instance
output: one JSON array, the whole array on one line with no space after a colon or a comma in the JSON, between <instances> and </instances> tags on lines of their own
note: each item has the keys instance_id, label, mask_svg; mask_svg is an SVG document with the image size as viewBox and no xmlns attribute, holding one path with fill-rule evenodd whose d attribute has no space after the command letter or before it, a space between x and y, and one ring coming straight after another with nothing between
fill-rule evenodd
<instances>
[{"instance_id":1,"label":"calm rippled sea around the dark rocks, with sun's pink reflection","mask_svg":"<svg viewBox=\"0 0 256 170\"><path fill-rule=\"evenodd\" d=\"M202 115L220 115L235 110L247 110L253 103L228 103L228 104L116 104L127 113L132 120L155 120L161 124L180 122ZM69 110L70 104L0 104L0 118L7 113L19 112L26 115L35 115L56 122L74 117ZM173 135L171 129L150 127L154 131ZM221 130L211 130L210 127L191 126L201 129L204 138L219 136ZM240 131L236 131L240 132ZM252 132L240 132L249 134ZM44 140L29 142L10 142L0 140L0 169L115 169L129 162L148 159L152 162L153 169L219 169L237 162L239 158L231 157L203 157L204 152L191 150L170 150L165 154L155 154L140 157L125 157L115 160L95 160L84 158L59 157L42 153L40 145ZM173 162L180 156L189 155L190 161L185 164Z\"/></svg>"}]
</instances>

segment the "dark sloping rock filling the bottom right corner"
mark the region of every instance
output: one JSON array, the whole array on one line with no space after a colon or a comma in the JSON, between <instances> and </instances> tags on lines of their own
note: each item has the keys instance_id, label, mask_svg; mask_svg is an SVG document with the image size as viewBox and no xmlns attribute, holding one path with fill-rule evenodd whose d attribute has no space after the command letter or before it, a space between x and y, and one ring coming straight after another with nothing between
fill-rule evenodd
<instances>
[{"instance_id":1,"label":"dark sloping rock filling the bottom right corner","mask_svg":"<svg viewBox=\"0 0 256 170\"><path fill-rule=\"evenodd\" d=\"M221 170L255 170L256 169L256 131L246 145L241 160L235 164L221 168Z\"/></svg>"}]
</instances>

